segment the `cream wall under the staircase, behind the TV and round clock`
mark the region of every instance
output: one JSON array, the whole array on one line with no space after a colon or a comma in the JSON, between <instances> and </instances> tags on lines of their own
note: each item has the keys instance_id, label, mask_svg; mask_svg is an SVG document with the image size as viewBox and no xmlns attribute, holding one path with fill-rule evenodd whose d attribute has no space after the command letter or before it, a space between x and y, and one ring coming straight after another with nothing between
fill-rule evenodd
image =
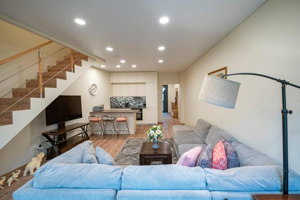
<instances>
[{"instance_id":1,"label":"cream wall under the staircase, behind the TV and round clock","mask_svg":"<svg viewBox=\"0 0 300 200\"><path fill-rule=\"evenodd\" d=\"M98 86L98 93L95 96L91 96L88 92L88 85L91 82ZM110 73L90 67L62 95L81 95L82 118L66 122L66 125L88 122L89 112L92 111L93 106L104 104L105 108L110 107L110 97L112 96ZM0 150L0 175L29 163L32 157L36 157L36 154L41 152L39 150L32 151L32 148L46 140L41 133L55 128L57 128L56 124L46 126L45 110L43 110ZM47 148L46 145L43 144L43 146Z\"/></svg>"}]
</instances>

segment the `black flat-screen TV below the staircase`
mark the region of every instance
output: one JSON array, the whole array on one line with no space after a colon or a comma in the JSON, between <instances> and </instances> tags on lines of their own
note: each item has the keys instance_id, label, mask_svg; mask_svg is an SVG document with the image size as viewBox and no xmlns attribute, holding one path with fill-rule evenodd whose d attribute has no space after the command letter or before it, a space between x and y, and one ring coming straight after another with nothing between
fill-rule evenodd
<instances>
[{"instance_id":1,"label":"black flat-screen TV below the staircase","mask_svg":"<svg viewBox=\"0 0 300 200\"><path fill-rule=\"evenodd\" d=\"M81 96L58 96L46 107L46 125L82 118Z\"/></svg>"}]
</instances>

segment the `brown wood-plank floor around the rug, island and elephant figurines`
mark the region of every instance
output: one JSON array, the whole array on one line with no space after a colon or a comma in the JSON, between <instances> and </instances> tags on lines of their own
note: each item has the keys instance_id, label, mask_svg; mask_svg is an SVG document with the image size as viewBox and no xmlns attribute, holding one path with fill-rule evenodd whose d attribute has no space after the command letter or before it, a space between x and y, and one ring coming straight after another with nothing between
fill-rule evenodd
<instances>
[{"instance_id":1,"label":"brown wood-plank floor around the rug, island and elephant figurines","mask_svg":"<svg viewBox=\"0 0 300 200\"><path fill-rule=\"evenodd\" d=\"M169 113L170 115L170 113ZM172 126L173 125L181 125L178 118L173 118L170 115L171 120L164 120L163 123L158 123L163 126L163 137L164 138L171 138L172 137ZM147 137L147 130L151 128L152 126L137 126L137 131L134 135L127 135L128 138L146 138ZM115 136L115 135L114 135ZM111 139L111 135L103 135L101 140L98 140L98 135L91 135L90 140L93 142L94 147L99 146L103 148L105 151L107 151L109 154L111 154L113 157L115 157L124 143L126 142L126 136L125 135L118 135L117 139L115 138ZM46 163L46 158L43 158L42 164ZM13 199L12 194L14 191L22 187L25 183L27 183L30 179L33 178L33 175L30 176L29 172L27 176L23 176L25 166L22 166L18 169L21 170L21 173L19 174L19 181L13 181L13 183L10 185L10 187L7 187L6 181L8 178L10 178L10 172L5 174L6 179L4 181L4 189L0 190L0 199Z\"/></svg>"}]
</instances>

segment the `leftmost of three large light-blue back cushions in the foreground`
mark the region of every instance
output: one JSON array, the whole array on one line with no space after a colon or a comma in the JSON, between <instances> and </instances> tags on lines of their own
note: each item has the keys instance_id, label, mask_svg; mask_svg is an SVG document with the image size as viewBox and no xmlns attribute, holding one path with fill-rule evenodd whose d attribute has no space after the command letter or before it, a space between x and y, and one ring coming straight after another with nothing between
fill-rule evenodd
<instances>
[{"instance_id":1,"label":"leftmost of three large light-blue back cushions in the foreground","mask_svg":"<svg viewBox=\"0 0 300 200\"><path fill-rule=\"evenodd\" d=\"M119 166L55 163L40 169L34 174L35 188L121 188Z\"/></svg>"}]
</instances>

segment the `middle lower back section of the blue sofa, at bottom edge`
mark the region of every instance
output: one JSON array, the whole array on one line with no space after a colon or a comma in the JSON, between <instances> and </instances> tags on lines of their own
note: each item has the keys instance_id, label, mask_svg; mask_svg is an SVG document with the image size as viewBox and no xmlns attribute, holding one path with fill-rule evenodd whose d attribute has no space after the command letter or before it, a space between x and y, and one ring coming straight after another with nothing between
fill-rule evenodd
<instances>
[{"instance_id":1,"label":"middle lower back section of the blue sofa, at bottom edge","mask_svg":"<svg viewBox=\"0 0 300 200\"><path fill-rule=\"evenodd\" d=\"M118 200L211 200L208 190L120 190Z\"/></svg>"}]
</instances>

